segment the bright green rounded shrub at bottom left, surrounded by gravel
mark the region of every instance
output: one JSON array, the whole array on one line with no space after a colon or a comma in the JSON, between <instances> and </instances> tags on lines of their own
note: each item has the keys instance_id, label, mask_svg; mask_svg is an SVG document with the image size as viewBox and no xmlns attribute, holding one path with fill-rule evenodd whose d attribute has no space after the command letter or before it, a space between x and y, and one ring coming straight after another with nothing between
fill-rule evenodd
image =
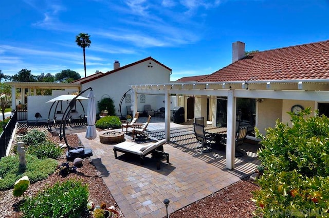
<instances>
[{"instance_id":1,"label":"bright green rounded shrub at bottom left, surrounded by gravel","mask_svg":"<svg viewBox=\"0 0 329 218\"><path fill-rule=\"evenodd\" d=\"M81 217L88 201L88 187L69 179L56 183L27 198L22 204L23 217Z\"/></svg>"}]
</instances>

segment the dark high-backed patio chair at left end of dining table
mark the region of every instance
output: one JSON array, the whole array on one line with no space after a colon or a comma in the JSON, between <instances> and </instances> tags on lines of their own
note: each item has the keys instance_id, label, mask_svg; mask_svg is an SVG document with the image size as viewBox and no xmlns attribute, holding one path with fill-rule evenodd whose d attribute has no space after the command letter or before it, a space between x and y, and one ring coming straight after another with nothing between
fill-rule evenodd
<instances>
[{"instance_id":1,"label":"dark high-backed patio chair at left end of dining table","mask_svg":"<svg viewBox=\"0 0 329 218\"><path fill-rule=\"evenodd\" d=\"M213 134L207 134L205 132L205 126L202 124L194 123L194 134L196 140L202 144L202 146L197 149L201 149L201 152L211 152L211 145L215 143L215 137Z\"/></svg>"}]
</instances>

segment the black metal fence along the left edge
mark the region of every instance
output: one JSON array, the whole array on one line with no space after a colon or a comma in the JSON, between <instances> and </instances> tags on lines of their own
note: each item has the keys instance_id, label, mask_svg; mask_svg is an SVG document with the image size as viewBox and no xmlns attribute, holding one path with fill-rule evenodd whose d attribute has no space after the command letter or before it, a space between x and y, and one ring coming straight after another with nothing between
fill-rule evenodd
<instances>
[{"instance_id":1,"label":"black metal fence along the left edge","mask_svg":"<svg viewBox=\"0 0 329 218\"><path fill-rule=\"evenodd\" d=\"M6 150L8 148L9 141L11 139L12 132L15 129L15 124L17 122L17 112L11 116L9 122L4 128L4 131L0 135L0 159L6 156Z\"/></svg>"}]
</instances>

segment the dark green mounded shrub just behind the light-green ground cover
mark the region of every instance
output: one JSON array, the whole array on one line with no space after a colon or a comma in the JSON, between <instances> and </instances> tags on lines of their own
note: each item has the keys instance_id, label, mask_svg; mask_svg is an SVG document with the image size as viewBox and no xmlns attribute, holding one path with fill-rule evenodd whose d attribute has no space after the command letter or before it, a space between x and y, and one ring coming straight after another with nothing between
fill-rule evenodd
<instances>
[{"instance_id":1,"label":"dark green mounded shrub just behind the light-green ground cover","mask_svg":"<svg viewBox=\"0 0 329 218\"><path fill-rule=\"evenodd\" d=\"M28 147L27 152L38 158L57 159L63 154L63 150L56 146L52 141L46 140L40 144Z\"/></svg>"}]
</instances>

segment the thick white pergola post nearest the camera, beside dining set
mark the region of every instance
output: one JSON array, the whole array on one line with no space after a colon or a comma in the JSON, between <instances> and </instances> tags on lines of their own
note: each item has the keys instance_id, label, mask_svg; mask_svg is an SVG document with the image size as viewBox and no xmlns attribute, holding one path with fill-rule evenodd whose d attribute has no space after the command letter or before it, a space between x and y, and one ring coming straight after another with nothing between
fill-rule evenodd
<instances>
[{"instance_id":1,"label":"thick white pergola post nearest the camera, beside dining set","mask_svg":"<svg viewBox=\"0 0 329 218\"><path fill-rule=\"evenodd\" d=\"M226 168L234 168L235 157L235 114L236 114L236 97L234 90L228 91L227 96L227 140L226 140Z\"/></svg>"}]
</instances>

